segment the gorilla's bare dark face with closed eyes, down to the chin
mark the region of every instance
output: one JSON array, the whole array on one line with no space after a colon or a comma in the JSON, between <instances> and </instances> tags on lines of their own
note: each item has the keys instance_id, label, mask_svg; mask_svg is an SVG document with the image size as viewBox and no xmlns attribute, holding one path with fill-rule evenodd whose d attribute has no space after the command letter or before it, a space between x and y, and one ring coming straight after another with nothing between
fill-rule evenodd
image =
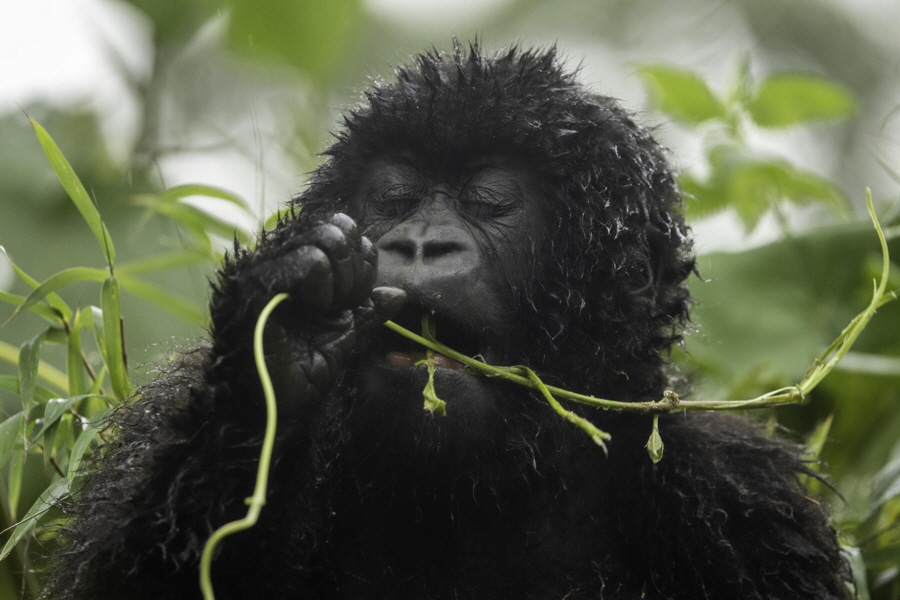
<instances>
[{"instance_id":1,"label":"gorilla's bare dark face with closed eyes, down to the chin","mask_svg":"<svg viewBox=\"0 0 900 600\"><path fill-rule=\"evenodd\" d=\"M423 315L431 314L442 343L490 364L513 364L521 362L517 315L540 268L534 257L544 245L543 206L526 169L510 161L438 169L398 159L368 169L352 213L378 249L376 285L407 294L396 322L418 332ZM425 357L421 346L383 329L362 340L360 350L351 371L366 402L400 404L406 414L395 412L391 429L409 418L415 434L427 428L429 435L446 431L469 440L489 431L495 418L507 418L496 406L496 382L438 354L435 387L449 414L435 419L422 408L427 369L415 366Z\"/></svg>"}]
</instances>

